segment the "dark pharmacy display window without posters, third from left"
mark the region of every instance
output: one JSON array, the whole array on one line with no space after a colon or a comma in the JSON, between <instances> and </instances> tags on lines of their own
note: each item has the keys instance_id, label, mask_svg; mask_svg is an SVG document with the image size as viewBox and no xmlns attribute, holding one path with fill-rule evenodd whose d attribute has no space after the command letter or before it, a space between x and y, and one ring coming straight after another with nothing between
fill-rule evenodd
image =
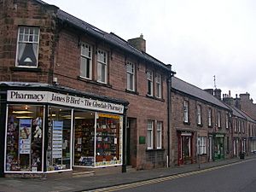
<instances>
[{"instance_id":1,"label":"dark pharmacy display window without posters, third from left","mask_svg":"<svg viewBox=\"0 0 256 192\"><path fill-rule=\"evenodd\" d=\"M74 166L95 166L95 113L74 112Z\"/></svg>"}]
</instances>

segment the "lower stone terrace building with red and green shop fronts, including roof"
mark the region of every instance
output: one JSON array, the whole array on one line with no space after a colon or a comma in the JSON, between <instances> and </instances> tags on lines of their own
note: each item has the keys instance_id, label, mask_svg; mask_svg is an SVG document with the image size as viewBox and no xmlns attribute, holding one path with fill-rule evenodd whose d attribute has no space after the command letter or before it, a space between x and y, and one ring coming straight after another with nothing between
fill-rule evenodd
<instances>
[{"instance_id":1,"label":"lower stone terrace building with red and green shop fronts, including roof","mask_svg":"<svg viewBox=\"0 0 256 192\"><path fill-rule=\"evenodd\" d=\"M230 113L206 90L173 78L172 162L183 165L230 158Z\"/></svg>"}]
</instances>

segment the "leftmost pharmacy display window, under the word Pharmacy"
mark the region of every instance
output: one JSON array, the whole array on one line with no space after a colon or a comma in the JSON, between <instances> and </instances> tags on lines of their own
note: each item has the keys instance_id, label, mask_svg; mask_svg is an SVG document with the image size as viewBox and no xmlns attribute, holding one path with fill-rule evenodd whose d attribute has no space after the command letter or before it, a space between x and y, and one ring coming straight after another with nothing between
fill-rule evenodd
<instances>
[{"instance_id":1,"label":"leftmost pharmacy display window, under the word Pharmacy","mask_svg":"<svg viewBox=\"0 0 256 192\"><path fill-rule=\"evenodd\" d=\"M42 172L44 107L9 105L6 172Z\"/></svg>"}]
</instances>

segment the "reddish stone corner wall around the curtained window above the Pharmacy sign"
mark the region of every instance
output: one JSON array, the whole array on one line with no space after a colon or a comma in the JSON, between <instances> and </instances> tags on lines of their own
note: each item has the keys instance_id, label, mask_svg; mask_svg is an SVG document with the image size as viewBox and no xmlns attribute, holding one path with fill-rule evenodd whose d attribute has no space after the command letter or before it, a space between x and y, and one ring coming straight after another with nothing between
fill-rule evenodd
<instances>
[{"instance_id":1,"label":"reddish stone corner wall around the curtained window above the Pharmacy sign","mask_svg":"<svg viewBox=\"0 0 256 192\"><path fill-rule=\"evenodd\" d=\"M0 74L1 81L49 82L49 70L55 49L54 6L43 6L34 1L0 1ZM15 68L19 26L40 27L38 70Z\"/></svg>"}]
</instances>

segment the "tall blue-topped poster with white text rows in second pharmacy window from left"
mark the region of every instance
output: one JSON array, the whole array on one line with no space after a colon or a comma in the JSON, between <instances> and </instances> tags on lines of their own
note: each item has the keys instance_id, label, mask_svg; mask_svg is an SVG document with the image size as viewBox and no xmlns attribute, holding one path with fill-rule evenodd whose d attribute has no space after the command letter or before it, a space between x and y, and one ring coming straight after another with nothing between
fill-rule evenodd
<instances>
[{"instance_id":1,"label":"tall blue-topped poster with white text rows in second pharmacy window from left","mask_svg":"<svg viewBox=\"0 0 256 192\"><path fill-rule=\"evenodd\" d=\"M63 121L53 121L52 158L62 158Z\"/></svg>"}]
</instances>

